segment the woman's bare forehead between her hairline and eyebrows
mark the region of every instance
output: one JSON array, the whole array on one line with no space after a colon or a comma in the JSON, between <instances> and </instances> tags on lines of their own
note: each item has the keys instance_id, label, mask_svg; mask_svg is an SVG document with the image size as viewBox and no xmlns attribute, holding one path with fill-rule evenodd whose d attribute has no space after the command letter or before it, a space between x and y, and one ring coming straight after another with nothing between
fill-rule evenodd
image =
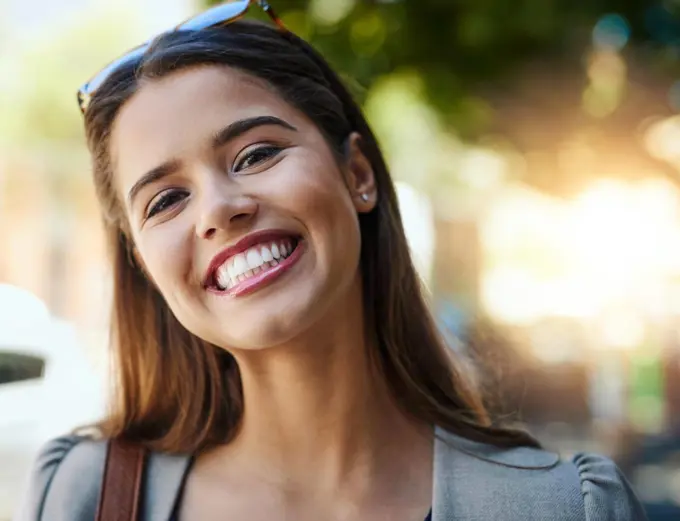
<instances>
[{"instance_id":1,"label":"woman's bare forehead between her hairline and eyebrows","mask_svg":"<svg viewBox=\"0 0 680 521\"><path fill-rule=\"evenodd\" d=\"M264 81L226 66L201 66L143 82L121 108L111 135L117 175L139 176L209 146L230 122L274 115L304 119Z\"/></svg>"}]
</instances>

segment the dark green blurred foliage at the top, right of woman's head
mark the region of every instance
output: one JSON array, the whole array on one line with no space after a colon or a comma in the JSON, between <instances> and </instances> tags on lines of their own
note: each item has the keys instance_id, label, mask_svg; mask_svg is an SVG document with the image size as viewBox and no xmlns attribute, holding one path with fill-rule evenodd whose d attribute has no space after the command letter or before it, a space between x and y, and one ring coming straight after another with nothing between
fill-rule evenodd
<instances>
[{"instance_id":1,"label":"dark green blurred foliage at the top, right of woman's head","mask_svg":"<svg viewBox=\"0 0 680 521\"><path fill-rule=\"evenodd\" d=\"M207 5L219 1L208 0ZM297 34L367 91L381 76L418 71L424 95L462 135L484 129L490 113L479 86L503 81L536 56L573 55L604 14L636 25L649 0L273 0ZM252 14L259 11L252 9ZM250 16L250 15L249 15Z\"/></svg>"}]
</instances>

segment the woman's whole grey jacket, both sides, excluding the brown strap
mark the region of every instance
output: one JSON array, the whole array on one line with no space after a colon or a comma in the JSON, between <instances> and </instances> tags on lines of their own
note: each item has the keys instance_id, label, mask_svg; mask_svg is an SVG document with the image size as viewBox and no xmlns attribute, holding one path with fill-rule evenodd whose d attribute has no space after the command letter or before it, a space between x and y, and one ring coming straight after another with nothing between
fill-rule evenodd
<instances>
[{"instance_id":1,"label":"woman's whole grey jacket, both sides, excluding the brown strap","mask_svg":"<svg viewBox=\"0 0 680 521\"><path fill-rule=\"evenodd\" d=\"M93 521L106 445L58 438L38 457L15 521ZM141 521L169 521L189 456L152 454ZM500 449L436 431L433 521L645 521L610 460L564 461L532 448Z\"/></svg>"}]
</instances>

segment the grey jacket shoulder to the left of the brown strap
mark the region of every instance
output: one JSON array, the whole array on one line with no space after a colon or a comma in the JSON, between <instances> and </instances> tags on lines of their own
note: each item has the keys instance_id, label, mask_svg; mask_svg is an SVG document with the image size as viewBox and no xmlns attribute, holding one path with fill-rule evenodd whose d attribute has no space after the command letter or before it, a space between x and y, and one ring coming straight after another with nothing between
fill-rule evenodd
<instances>
[{"instance_id":1,"label":"grey jacket shoulder to the left of the brown strap","mask_svg":"<svg viewBox=\"0 0 680 521\"><path fill-rule=\"evenodd\" d=\"M33 464L15 521L88 519L96 511L105 461L105 441L76 435L49 441Z\"/></svg>"}]
</instances>

